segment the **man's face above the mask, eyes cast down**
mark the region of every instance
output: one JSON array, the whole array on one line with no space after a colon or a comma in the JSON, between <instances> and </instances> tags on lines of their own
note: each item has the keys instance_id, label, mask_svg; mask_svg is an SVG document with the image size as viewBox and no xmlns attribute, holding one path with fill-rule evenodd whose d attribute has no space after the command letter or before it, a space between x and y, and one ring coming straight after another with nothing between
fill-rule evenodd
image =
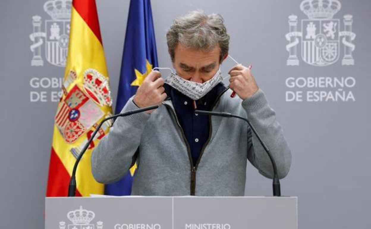
<instances>
[{"instance_id":1,"label":"man's face above the mask, eyes cast down","mask_svg":"<svg viewBox=\"0 0 371 229\"><path fill-rule=\"evenodd\" d=\"M186 48L178 43L174 54L173 66L183 79L204 83L219 70L219 46L205 51Z\"/></svg>"}]
</instances>

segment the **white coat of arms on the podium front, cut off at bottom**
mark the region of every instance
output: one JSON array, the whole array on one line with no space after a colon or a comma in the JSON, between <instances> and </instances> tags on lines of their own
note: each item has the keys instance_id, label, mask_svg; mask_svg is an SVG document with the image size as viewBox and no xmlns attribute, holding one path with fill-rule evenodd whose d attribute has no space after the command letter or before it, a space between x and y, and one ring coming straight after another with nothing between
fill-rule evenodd
<instances>
[{"instance_id":1,"label":"white coat of arms on the podium front, cut off at bottom","mask_svg":"<svg viewBox=\"0 0 371 229\"><path fill-rule=\"evenodd\" d=\"M103 229L102 221L96 222L96 225L91 223L94 217L94 212L83 209L82 206L80 206L80 209L67 213L67 218L72 223L66 225L66 222L61 221L59 222L59 229Z\"/></svg>"}]
</instances>

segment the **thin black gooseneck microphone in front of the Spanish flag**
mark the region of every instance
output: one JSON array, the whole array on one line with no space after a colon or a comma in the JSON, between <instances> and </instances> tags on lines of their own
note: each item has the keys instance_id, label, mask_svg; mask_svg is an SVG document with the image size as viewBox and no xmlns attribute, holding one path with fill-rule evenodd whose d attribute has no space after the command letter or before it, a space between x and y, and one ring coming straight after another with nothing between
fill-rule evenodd
<instances>
[{"instance_id":1,"label":"thin black gooseneck microphone in front of the Spanish flag","mask_svg":"<svg viewBox=\"0 0 371 229\"><path fill-rule=\"evenodd\" d=\"M124 113L121 113L121 114L112 115L112 116L107 117L104 120L102 120L101 123L99 123L98 127L95 128L95 131L93 132L93 134L89 138L89 141L85 144L84 148L81 150L81 153L79 154L78 158L75 161L75 165L73 166L73 170L72 170L70 183L69 183L69 186L68 186L68 197L72 197L72 196L76 195L76 170L77 170L77 166L78 166L82 156L84 155L85 151L88 149L90 143L93 141L94 136L96 135L96 133L98 133L99 129L101 128L102 124L105 121L110 120L112 118L125 117L125 116L128 116L128 115L133 115L133 114L137 114L137 113L140 113L140 112L149 111L149 110L153 110L153 109L157 109L157 108L158 108L158 105L154 105L154 106L150 106L150 107L144 107L144 108L136 109L136 110L133 110L133 111L127 111L127 112L124 112Z\"/></svg>"}]
</instances>

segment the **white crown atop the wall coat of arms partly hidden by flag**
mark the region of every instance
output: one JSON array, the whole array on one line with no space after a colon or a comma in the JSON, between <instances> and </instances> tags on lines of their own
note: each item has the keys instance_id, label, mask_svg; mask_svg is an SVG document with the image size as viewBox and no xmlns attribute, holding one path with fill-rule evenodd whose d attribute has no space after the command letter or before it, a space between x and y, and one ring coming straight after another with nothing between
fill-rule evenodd
<instances>
[{"instance_id":1,"label":"white crown atop the wall coat of arms partly hidden by flag","mask_svg":"<svg viewBox=\"0 0 371 229\"><path fill-rule=\"evenodd\" d=\"M50 0L44 4L44 10L53 20L69 20L72 0Z\"/></svg>"}]
</instances>

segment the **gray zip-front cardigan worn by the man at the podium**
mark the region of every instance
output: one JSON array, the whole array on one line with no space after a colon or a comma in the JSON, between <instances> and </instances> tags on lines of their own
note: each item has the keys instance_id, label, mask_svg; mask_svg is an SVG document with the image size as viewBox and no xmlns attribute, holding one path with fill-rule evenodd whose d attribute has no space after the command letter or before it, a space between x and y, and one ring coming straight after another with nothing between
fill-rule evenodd
<instances>
[{"instance_id":1,"label":"gray zip-front cardigan worn by the man at the podium","mask_svg":"<svg viewBox=\"0 0 371 229\"><path fill-rule=\"evenodd\" d=\"M291 153L259 89L242 101L231 98L228 89L212 111L229 112L249 119L273 155L280 179L288 174ZM129 99L122 112L137 109ZM118 118L110 132L92 153L92 173L100 183L121 179L134 161L137 171L132 195L141 196L243 196L247 160L268 178L272 163L248 124L237 118L211 117L210 139L197 164L191 165L190 152L177 121L171 100L165 100L151 114Z\"/></svg>"}]
</instances>

